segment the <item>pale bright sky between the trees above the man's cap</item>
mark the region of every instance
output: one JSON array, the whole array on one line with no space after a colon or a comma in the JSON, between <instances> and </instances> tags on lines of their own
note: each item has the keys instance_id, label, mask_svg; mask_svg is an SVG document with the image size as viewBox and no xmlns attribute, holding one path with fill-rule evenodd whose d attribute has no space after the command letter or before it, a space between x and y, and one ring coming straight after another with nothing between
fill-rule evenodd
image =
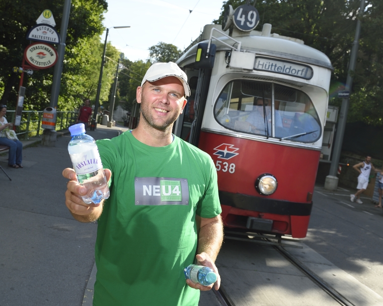
<instances>
[{"instance_id":1,"label":"pale bright sky between the trees above the man's cap","mask_svg":"<svg viewBox=\"0 0 383 306\"><path fill-rule=\"evenodd\" d=\"M107 0L104 14L108 42L130 61L149 59L148 48L159 42L182 51L195 40L205 24L218 19L224 0ZM190 13L189 10L192 10ZM101 36L105 41L106 31Z\"/></svg>"}]
</instances>

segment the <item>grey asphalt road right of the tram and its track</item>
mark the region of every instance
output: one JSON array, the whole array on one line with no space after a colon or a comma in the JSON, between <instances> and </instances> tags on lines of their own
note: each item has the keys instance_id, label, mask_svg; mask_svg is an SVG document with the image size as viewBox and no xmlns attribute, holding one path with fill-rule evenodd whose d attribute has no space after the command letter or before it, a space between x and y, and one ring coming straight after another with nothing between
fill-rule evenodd
<instances>
[{"instance_id":1,"label":"grey asphalt road right of the tram and its track","mask_svg":"<svg viewBox=\"0 0 383 306\"><path fill-rule=\"evenodd\" d=\"M350 201L356 190L315 187L303 242L383 297L383 211L372 201Z\"/></svg>"}]
</instances>

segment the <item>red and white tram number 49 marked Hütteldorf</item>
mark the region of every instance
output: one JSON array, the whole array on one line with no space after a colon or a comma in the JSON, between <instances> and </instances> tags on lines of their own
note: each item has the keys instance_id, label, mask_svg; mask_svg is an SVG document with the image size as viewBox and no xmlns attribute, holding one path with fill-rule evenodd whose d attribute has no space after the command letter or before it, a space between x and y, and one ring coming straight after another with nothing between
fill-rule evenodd
<instances>
[{"instance_id":1,"label":"red and white tram number 49 marked H\u00fctteldorf","mask_svg":"<svg viewBox=\"0 0 383 306\"><path fill-rule=\"evenodd\" d=\"M270 24L254 31L256 13L228 8L229 30L206 25L177 61L192 95L174 133L213 158L226 227L303 238L333 68Z\"/></svg>"}]
</instances>

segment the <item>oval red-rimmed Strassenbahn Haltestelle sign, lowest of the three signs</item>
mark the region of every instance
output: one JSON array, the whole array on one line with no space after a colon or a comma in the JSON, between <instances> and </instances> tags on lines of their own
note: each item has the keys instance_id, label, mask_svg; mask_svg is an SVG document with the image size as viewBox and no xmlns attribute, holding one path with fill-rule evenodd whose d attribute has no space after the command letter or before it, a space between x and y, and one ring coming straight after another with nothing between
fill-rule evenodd
<instances>
[{"instance_id":1,"label":"oval red-rimmed Strassenbahn Haltestelle sign, lowest of the three signs","mask_svg":"<svg viewBox=\"0 0 383 306\"><path fill-rule=\"evenodd\" d=\"M34 43L25 48L25 61L32 67L46 69L55 65L58 55L53 46L45 43Z\"/></svg>"}]
</instances>

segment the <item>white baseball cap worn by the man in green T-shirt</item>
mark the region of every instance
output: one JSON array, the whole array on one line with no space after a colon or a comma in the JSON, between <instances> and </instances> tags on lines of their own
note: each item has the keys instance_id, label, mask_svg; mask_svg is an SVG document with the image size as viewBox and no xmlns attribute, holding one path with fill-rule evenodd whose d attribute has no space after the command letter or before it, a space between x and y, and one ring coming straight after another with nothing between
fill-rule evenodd
<instances>
[{"instance_id":1,"label":"white baseball cap worn by the man in green T-shirt","mask_svg":"<svg viewBox=\"0 0 383 306\"><path fill-rule=\"evenodd\" d=\"M167 76L175 76L182 82L183 89L185 90L185 97L190 96L190 87L187 83L186 73L181 70L175 62L157 62L151 65L141 82L141 86L146 81L155 82Z\"/></svg>"}]
</instances>

